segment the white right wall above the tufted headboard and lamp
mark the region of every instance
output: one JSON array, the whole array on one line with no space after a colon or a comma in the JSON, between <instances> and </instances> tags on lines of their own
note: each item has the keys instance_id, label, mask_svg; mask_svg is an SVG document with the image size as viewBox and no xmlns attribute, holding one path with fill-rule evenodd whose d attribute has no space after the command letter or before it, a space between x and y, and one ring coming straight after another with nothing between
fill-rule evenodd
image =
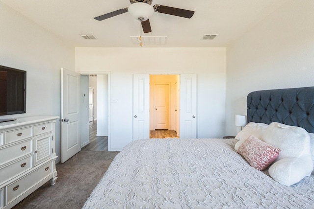
<instances>
[{"instance_id":1,"label":"white right wall above the tufted headboard and lamp","mask_svg":"<svg viewBox=\"0 0 314 209\"><path fill-rule=\"evenodd\" d=\"M252 91L314 86L314 1L289 0L226 49L226 133Z\"/></svg>"}]
</instances>

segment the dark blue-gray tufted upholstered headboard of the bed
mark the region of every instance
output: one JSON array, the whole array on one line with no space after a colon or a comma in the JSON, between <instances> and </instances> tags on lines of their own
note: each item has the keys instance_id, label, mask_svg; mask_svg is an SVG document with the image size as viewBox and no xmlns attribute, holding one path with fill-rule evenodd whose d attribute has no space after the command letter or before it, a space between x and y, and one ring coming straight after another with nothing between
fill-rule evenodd
<instances>
[{"instance_id":1,"label":"dark blue-gray tufted upholstered headboard of the bed","mask_svg":"<svg viewBox=\"0 0 314 209\"><path fill-rule=\"evenodd\" d=\"M247 120L280 122L314 133L314 87L251 92L247 96Z\"/></svg>"}]
</instances>

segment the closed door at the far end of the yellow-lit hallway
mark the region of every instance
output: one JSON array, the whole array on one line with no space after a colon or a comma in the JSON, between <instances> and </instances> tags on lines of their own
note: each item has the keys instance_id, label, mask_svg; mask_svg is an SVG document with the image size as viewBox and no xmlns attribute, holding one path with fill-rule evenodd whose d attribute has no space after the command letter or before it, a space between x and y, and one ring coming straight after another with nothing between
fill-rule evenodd
<instances>
[{"instance_id":1,"label":"closed door at the far end of the yellow-lit hallway","mask_svg":"<svg viewBox=\"0 0 314 209\"><path fill-rule=\"evenodd\" d=\"M169 84L155 84L154 103L154 128L169 129Z\"/></svg>"}]
</instances>

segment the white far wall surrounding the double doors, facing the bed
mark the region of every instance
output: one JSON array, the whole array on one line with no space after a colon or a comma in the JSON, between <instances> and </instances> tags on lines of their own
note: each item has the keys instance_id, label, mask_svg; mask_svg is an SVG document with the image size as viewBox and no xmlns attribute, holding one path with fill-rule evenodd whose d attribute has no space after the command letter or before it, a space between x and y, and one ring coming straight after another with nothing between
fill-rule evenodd
<instances>
[{"instance_id":1,"label":"white far wall surrounding the double doors, facing the bed","mask_svg":"<svg viewBox=\"0 0 314 209\"><path fill-rule=\"evenodd\" d=\"M225 133L225 64L225 48L76 48L77 72L110 72L111 151L132 141L133 73L196 73L197 137L221 138Z\"/></svg>"}]
</instances>

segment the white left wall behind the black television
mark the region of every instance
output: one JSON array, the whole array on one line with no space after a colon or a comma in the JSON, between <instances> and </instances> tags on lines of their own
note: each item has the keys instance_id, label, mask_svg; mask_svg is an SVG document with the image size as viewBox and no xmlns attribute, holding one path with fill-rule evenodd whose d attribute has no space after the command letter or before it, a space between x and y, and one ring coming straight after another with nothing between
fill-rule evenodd
<instances>
[{"instance_id":1,"label":"white left wall behind the black television","mask_svg":"<svg viewBox=\"0 0 314 209\"><path fill-rule=\"evenodd\" d=\"M0 14L0 65L27 71L26 114L6 118L60 116L60 69L74 70L74 47L2 2ZM59 121L55 127L55 152L59 161Z\"/></svg>"}]
</instances>

